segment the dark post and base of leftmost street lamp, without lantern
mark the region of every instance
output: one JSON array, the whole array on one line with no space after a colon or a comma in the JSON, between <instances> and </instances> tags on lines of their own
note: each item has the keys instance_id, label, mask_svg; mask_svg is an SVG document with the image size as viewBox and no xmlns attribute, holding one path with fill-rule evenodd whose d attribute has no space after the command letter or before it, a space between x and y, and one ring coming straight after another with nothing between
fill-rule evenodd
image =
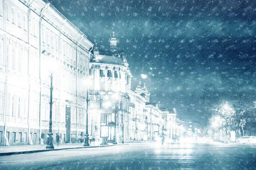
<instances>
[{"instance_id":1,"label":"dark post and base of leftmost street lamp, without lantern","mask_svg":"<svg viewBox=\"0 0 256 170\"><path fill-rule=\"evenodd\" d=\"M46 146L46 149L54 149L54 146L52 144L53 142L53 133L52 133L52 90L53 90L53 87L52 87L52 72L50 74L50 78L51 78L51 86L50 86L50 120L49 120L49 133L48 134L48 137L47 137L47 146Z\"/></svg>"}]
</instances>

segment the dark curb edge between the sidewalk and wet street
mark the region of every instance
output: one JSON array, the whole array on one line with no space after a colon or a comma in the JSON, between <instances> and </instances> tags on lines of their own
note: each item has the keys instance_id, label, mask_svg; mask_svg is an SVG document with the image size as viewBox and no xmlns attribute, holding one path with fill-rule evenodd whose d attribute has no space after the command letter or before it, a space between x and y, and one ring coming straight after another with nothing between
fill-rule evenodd
<instances>
[{"instance_id":1,"label":"dark curb edge between the sidewalk and wet street","mask_svg":"<svg viewBox=\"0 0 256 170\"><path fill-rule=\"evenodd\" d=\"M81 148L94 148L94 147L110 147L110 146L120 146L120 145L128 145L128 144L113 144L113 145L111 144L111 145L99 145L99 146L67 147L67 148L58 148L58 149L28 150L28 151L0 153L0 156L47 152L47 151L53 151L53 150L81 149Z\"/></svg>"}]
</instances>

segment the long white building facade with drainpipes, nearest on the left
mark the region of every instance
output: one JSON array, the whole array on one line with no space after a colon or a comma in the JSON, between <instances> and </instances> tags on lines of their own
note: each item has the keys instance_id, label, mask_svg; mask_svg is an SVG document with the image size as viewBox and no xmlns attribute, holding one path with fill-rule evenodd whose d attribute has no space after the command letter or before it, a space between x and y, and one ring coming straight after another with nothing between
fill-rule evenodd
<instances>
[{"instance_id":1,"label":"long white building facade with drainpipes, nearest on the left","mask_svg":"<svg viewBox=\"0 0 256 170\"><path fill-rule=\"evenodd\" d=\"M0 144L46 143L50 78L52 133L70 142L85 129L93 44L43 0L0 0ZM55 137L55 135L54 135ZM54 139L55 142L55 139Z\"/></svg>"}]
</instances>

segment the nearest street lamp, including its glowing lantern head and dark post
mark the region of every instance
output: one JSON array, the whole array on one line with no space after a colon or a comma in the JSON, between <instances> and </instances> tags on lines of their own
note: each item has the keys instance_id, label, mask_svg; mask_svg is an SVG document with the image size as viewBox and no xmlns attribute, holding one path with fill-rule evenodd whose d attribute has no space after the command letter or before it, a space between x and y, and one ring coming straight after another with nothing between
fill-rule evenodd
<instances>
[{"instance_id":1,"label":"nearest street lamp, including its glowing lantern head and dark post","mask_svg":"<svg viewBox=\"0 0 256 170\"><path fill-rule=\"evenodd\" d=\"M50 56L51 57L51 56ZM48 134L48 137L47 137L47 146L46 146L46 149L54 149L54 146L53 146L53 133L52 133L52 90L53 90L53 87L52 87L52 74L54 73L54 60L51 59L51 61L49 62L49 72L50 72L50 79L51 79L51 86L50 86L50 119L49 119L49 133Z\"/></svg>"}]
</instances>

